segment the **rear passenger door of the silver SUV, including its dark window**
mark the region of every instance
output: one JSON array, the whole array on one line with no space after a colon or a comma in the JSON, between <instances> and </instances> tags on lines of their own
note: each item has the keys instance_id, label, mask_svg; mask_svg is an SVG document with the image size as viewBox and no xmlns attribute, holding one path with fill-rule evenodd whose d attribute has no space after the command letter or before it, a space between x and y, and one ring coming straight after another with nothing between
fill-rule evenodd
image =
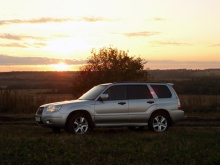
<instances>
[{"instance_id":1,"label":"rear passenger door of the silver SUV, including its dark window","mask_svg":"<svg viewBox=\"0 0 220 165\"><path fill-rule=\"evenodd\" d=\"M147 85L129 85L129 122L146 123L149 117L148 109L156 106Z\"/></svg>"}]
</instances>

